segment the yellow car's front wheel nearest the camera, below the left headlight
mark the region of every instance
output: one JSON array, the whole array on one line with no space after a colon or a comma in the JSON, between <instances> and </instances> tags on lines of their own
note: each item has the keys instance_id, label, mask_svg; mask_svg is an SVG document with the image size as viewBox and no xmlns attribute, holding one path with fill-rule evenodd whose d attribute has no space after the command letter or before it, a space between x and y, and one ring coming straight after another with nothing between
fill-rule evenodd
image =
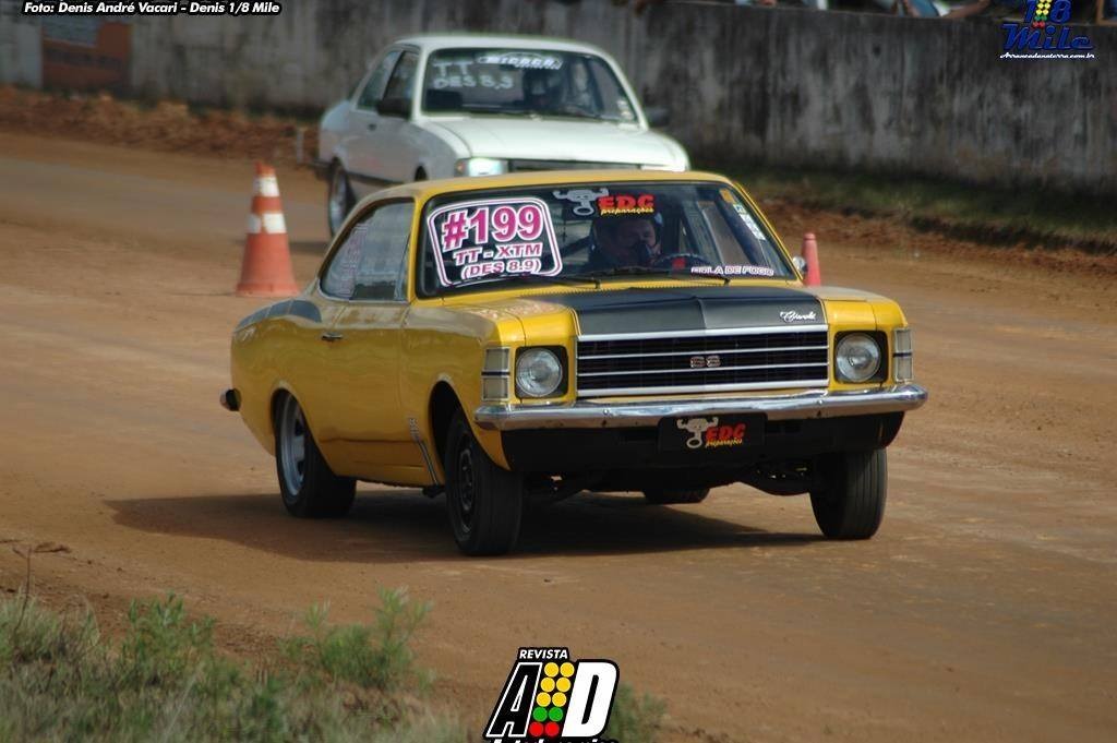
<instances>
[{"instance_id":1,"label":"yellow car's front wheel nearest the camera, below the left headlight","mask_svg":"<svg viewBox=\"0 0 1117 743\"><path fill-rule=\"evenodd\" d=\"M468 555L504 554L516 545L524 511L524 478L496 465L458 410L446 436L446 511L458 549Z\"/></svg>"}]
</instances>

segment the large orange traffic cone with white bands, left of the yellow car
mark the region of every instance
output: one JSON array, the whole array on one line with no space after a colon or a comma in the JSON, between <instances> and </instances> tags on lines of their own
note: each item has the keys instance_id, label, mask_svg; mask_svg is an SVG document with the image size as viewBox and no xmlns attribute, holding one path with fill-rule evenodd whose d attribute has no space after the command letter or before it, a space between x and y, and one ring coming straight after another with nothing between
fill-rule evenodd
<instances>
[{"instance_id":1,"label":"large orange traffic cone with white bands, left of the yellow car","mask_svg":"<svg viewBox=\"0 0 1117 743\"><path fill-rule=\"evenodd\" d=\"M254 297L287 297L298 294L290 269L287 222L279 201L279 182L271 165L256 163L252 210L248 215L245 257L240 264L237 294Z\"/></svg>"}]
</instances>

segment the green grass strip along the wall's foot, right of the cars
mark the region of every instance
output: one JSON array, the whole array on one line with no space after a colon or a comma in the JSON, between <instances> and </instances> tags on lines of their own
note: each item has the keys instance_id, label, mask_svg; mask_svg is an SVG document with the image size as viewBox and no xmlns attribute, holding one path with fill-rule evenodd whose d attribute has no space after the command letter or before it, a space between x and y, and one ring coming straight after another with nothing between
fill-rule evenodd
<instances>
[{"instance_id":1,"label":"green grass strip along the wall's foot, right of the cars","mask_svg":"<svg viewBox=\"0 0 1117 743\"><path fill-rule=\"evenodd\" d=\"M901 219L917 229L986 242L1117 254L1111 200L871 173L757 166L735 177L758 199Z\"/></svg>"}]
</instances>

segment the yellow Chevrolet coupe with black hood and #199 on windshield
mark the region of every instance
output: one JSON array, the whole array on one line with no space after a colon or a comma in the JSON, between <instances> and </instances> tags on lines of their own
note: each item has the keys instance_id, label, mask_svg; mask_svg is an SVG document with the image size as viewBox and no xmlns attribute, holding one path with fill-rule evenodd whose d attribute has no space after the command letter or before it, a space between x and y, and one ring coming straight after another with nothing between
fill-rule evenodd
<instances>
[{"instance_id":1,"label":"yellow Chevrolet coupe with black hood and #199 on windshield","mask_svg":"<svg viewBox=\"0 0 1117 743\"><path fill-rule=\"evenodd\" d=\"M221 401L292 514L345 514L356 480L421 487L467 554L510 550L527 501L731 483L810 493L827 536L867 539L885 448L927 392L895 302L802 278L720 175L409 183L240 322Z\"/></svg>"}]
</instances>

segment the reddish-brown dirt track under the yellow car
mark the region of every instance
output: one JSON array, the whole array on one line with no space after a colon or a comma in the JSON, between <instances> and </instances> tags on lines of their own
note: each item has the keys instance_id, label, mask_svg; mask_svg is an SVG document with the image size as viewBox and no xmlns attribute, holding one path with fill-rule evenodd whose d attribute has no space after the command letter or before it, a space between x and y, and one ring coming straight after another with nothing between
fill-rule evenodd
<instances>
[{"instance_id":1,"label":"reddish-brown dirt track under the yellow car","mask_svg":"<svg viewBox=\"0 0 1117 743\"><path fill-rule=\"evenodd\" d=\"M302 279L322 188L279 175ZM1113 740L1111 284L815 226L829 283L904 304L933 396L891 449L873 541L820 541L805 498L734 487L574 499L518 554L466 560L417 492L287 517L271 459L218 407L229 332L259 305L231 295L250 183L245 162L0 134L0 542L69 550L36 556L54 600L112 622L174 590L250 651L314 602L356 620L408 585L436 604L421 660L475 726L515 649L555 644L665 697L672 741ZM4 550L0 588L21 570Z\"/></svg>"}]
</instances>

